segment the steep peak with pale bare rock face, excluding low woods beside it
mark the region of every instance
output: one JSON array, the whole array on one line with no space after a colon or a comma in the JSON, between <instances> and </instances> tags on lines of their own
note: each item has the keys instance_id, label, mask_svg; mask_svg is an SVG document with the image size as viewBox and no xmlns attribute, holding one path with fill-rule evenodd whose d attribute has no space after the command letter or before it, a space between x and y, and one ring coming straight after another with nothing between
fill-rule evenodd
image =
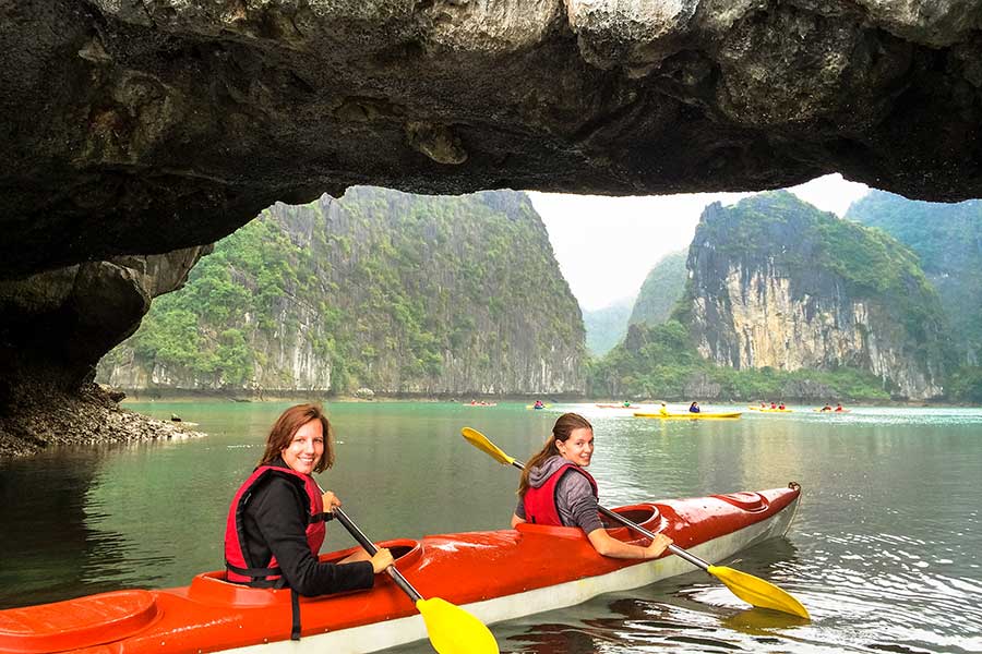
<instances>
[{"instance_id":1,"label":"steep peak with pale bare rock face, excluding low woods beside it","mask_svg":"<svg viewBox=\"0 0 982 654\"><path fill-rule=\"evenodd\" d=\"M738 370L851 366L898 396L942 395L937 295L885 234L767 193L708 207L687 266L685 311L703 356Z\"/></svg>"}]
</instances>

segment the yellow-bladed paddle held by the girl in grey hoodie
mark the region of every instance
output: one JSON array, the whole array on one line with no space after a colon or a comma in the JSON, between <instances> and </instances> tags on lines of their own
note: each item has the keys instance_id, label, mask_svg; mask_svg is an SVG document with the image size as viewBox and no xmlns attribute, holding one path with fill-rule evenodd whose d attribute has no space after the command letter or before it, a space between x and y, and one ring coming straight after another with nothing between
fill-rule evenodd
<instances>
[{"instance_id":1,"label":"yellow-bladed paddle held by the girl in grey hoodie","mask_svg":"<svg viewBox=\"0 0 982 654\"><path fill-rule=\"evenodd\" d=\"M464 427L463 429L460 429L460 434L472 446L490 455L492 459L496 460L502 465L514 465L518 470L525 470L525 464L522 463L522 461L517 461L513 457L506 455L496 445L491 443L487 436L484 436L477 429ZM635 524L620 513L615 513L609 509L604 509L603 507L600 507L600 512L608 518L616 520L621 524L630 526L634 531L648 536L649 538L655 537L655 534L652 532L646 530L639 524ZM747 604L753 604L754 606L759 606L762 608L771 608L774 610L779 610L782 613L791 614L793 616L811 619L811 617L809 616L809 611L804 606L801 605L801 602L768 581L764 581L763 579L754 577L753 574L747 574L746 572L741 572L740 570L734 570L724 566L714 566L708 561L704 561L694 554L682 549L675 544L669 545L668 549L672 554L682 557L693 566L702 568L709 574L716 577L718 580L723 582L723 584L726 584L726 586L730 589L730 591L732 591L734 595L736 595Z\"/></svg>"}]
</instances>

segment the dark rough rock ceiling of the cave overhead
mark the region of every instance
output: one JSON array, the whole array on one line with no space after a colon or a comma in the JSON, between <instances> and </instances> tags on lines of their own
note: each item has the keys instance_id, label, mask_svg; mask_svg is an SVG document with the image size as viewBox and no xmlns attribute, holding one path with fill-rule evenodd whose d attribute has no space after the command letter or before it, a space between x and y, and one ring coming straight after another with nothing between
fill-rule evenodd
<instances>
[{"instance_id":1,"label":"dark rough rock ceiling of the cave overhead","mask_svg":"<svg viewBox=\"0 0 982 654\"><path fill-rule=\"evenodd\" d=\"M354 184L982 196L968 0L0 0L0 277Z\"/></svg>"}]
</instances>

